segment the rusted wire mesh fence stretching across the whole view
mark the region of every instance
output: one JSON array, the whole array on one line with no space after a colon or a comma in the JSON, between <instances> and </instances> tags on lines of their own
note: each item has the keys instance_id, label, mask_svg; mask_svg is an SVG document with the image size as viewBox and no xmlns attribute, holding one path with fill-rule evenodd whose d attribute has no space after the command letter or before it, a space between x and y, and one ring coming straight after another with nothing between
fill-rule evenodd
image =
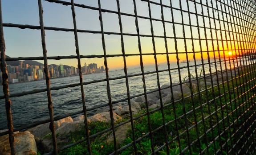
<instances>
[{"instance_id":1,"label":"rusted wire mesh fence stretching across the whole view","mask_svg":"<svg viewBox=\"0 0 256 155\"><path fill-rule=\"evenodd\" d=\"M255 134L256 130L252 129L256 126L255 122L255 89L256 89L256 20L254 19L256 5L252 0L186 0L186 1L175 1L170 0L170 3L160 0L159 2L151 0L141 0L147 7L149 16L138 15L138 2L133 0L133 9L134 13L124 13L121 12L120 2L116 0L117 10L104 9L101 5L101 0L98 0L98 7L91 7L84 4L74 3L73 0L70 2L63 0L45 0L49 3L56 3L62 5L68 5L72 11L73 17L73 28L65 27L45 27L43 23L43 12L41 0L38 0L39 6L39 16L40 16L40 25L28 25L28 24L16 24L16 23L3 23L2 19L0 20L1 28L1 70L3 73L3 89L4 95L0 95L0 100L5 99L6 103L6 114L8 120L8 131L1 132L0 136L9 134L10 146L12 147L12 154L15 154L14 149L14 137L13 132L25 130L27 128L35 127L39 124L45 124L50 122L50 129L52 132L53 140L53 151L49 154L57 154L59 151L64 151L65 149L75 146L79 143L85 142L87 144L87 151L89 154L92 154L91 141L92 139L101 136L106 132L112 132L113 134L113 152L110 155L117 155L122 151L125 151L128 147L132 147L134 154L138 153L138 145L145 139L150 140L150 154L157 154L159 151L165 151L167 154L171 153L170 145L173 143L178 143L179 153L180 154L191 154L194 150L193 148L198 147L199 154L253 154L255 153ZM174 7L173 4L177 3L178 7ZM154 12L151 10L153 6L161 8L161 18L153 18L152 15ZM88 9L98 11L99 21L100 21L100 30L91 31L87 29L77 29L76 14L75 8ZM1 6L0 6L1 9ZM171 14L171 21L165 18L165 12ZM118 24L120 32L104 31L103 29L103 16L102 13L106 12L109 14L118 15ZM179 12L181 15L180 22L175 21L175 13ZM158 12L159 13L159 12ZM0 13L1 17L2 14ZM188 15L188 21L185 21L186 16ZM192 17L192 15L194 17ZM122 17L133 17L135 19L135 33L124 33ZM192 20L196 19L196 24L192 24ZM139 27L139 20L143 19L150 22L150 34L141 34ZM155 26L153 22L162 23L163 25L163 34L155 35ZM167 24L171 25L168 27ZM19 57L19 58L5 58L5 46L4 46L4 35L3 27L14 27L20 29L35 29L41 31L41 43L43 48L43 57ZM185 27L189 27L190 32L185 31ZM182 29L180 29L182 28ZM167 35L167 31L172 29L173 34ZM69 56L47 56L47 50L45 45L45 30L49 31L61 31L61 32L73 32L74 41L76 47L76 55ZM180 34L177 34L177 30L181 30ZM196 30L195 32L193 32ZM203 32L202 32L203 31ZM78 45L78 36L79 33L88 33L88 34L100 34L102 36L102 47L103 54L98 55L81 55L79 52ZM178 32L179 33L179 32ZM198 37L195 37L193 34L196 33ZM209 33L209 34L208 34ZM121 51L120 54L108 54L106 49L106 35L115 35L121 38ZM124 36L134 36L138 37L138 52L126 53L126 48L124 45ZM152 52L147 51L142 53L142 43L141 39L150 38L152 39ZM156 39L163 39L165 51L158 52L156 50ZM168 43L170 39L174 41L175 50L171 51L168 49ZM183 41L184 51L179 50L178 40ZM189 41L191 40L191 45ZM199 45L197 45L197 42ZM205 46L204 46L205 45ZM191 46L191 50L188 48ZM225 46L229 47L228 49L224 48ZM195 50L199 47L199 50ZM235 58L230 58L227 56L227 52L231 50L235 55ZM247 54L245 54L247 53ZM186 56L186 65L181 66L180 64L180 54ZM167 69L158 68L158 56L166 56L167 60ZM193 55L192 63L189 62L189 55ZM196 55L200 55L200 58L196 58ZM213 60L210 56L213 55ZM223 55L223 57L222 57ZM140 60L140 73L128 74L127 71L127 57L136 56ZM144 59L143 56L154 56L154 71L145 72ZM107 58L122 58L124 64L124 76L118 77L109 77L108 62ZM175 67L171 66L170 58L176 58ZM207 57L207 58L206 58ZM92 80L92 81L83 81L83 74L81 70L81 59L82 58L103 58L104 66L106 68L106 77L102 79ZM61 86L50 86L49 78L49 69L47 60L62 60L62 59L77 59L78 70L79 70L79 83L61 85ZM9 61L19 61L19 60L43 60L45 66L45 75L46 75L46 89L37 89L26 92L11 93L8 92L8 73L6 62ZM198 61L199 60L199 61ZM232 66L236 66L232 68ZM206 70L209 68L209 74ZM198 72L202 70L199 74ZM187 70L187 80L182 79L181 70ZM215 70L215 72L214 72ZM218 71L220 70L220 71ZM245 71L246 70L246 71ZM172 71L178 71L179 75L172 74ZM195 71L195 72L193 72ZM162 73L167 73L169 76L170 83L168 86L162 88L160 86L160 75ZM191 73L195 74L195 78L191 77ZM149 90L146 87L146 77L145 75L156 75L156 89ZM173 83L172 77L177 76L179 78L179 83ZM130 94L129 88L129 78L130 77L142 77L143 82L143 92L136 93L135 95ZM213 79L218 79L213 81ZM110 81L116 81L118 79L123 79L126 81L126 94L127 97L122 97L121 99L112 100ZM210 81L207 81L209 80ZM93 106L88 108L85 104L85 85L94 85L99 82L106 83L106 94L108 101L102 103L101 105ZM210 83L210 85L209 85ZM190 94L184 95L183 85L189 87ZM196 85L196 91L192 89L193 85ZM203 85L203 86L202 86ZM80 86L81 91L81 104L83 108L77 110L76 112L64 114L61 116L53 115L53 101L51 97L52 91L57 91L60 89L73 88ZM181 98L175 100L174 98L174 87L179 87L181 91ZM248 89L247 89L248 88ZM163 103L162 92L164 89L171 90L171 101L169 103ZM48 97L48 108L49 108L49 119L35 122L33 124L24 124L22 126L17 126L13 128L12 125L12 111L11 111L11 101L12 97L21 97L28 94L37 94L47 92ZM159 107L153 110L149 109L148 96L150 93L158 93L159 96ZM132 112L132 101L136 97L143 96L146 102L146 112L140 114L139 116L134 116ZM191 108L187 108L186 101L191 100ZM113 106L120 102L126 102L129 106L129 119L121 122L114 123L114 112ZM195 103L199 102L199 103ZM178 105L179 104L179 105ZM87 115L88 112L93 112L98 108L108 107L110 111L110 127L106 128L101 132L97 132L93 135L89 135L89 126ZM182 108L181 113L177 113L177 107ZM212 108L213 107L213 108ZM173 118L167 121L167 115L164 112L166 108L172 108ZM152 128L151 120L152 114L155 112L160 112L161 125L156 128ZM85 134L86 137L77 142L66 145L62 148L57 148L57 139L54 129L55 120L60 120L67 116L75 116L77 114L83 114L85 116ZM199 115L199 116L197 116ZM194 119L194 122L189 122L189 118ZM134 122L140 118L147 118L147 129L148 132L142 136L137 137L136 127ZM179 127L180 120L184 121L184 127L181 129ZM241 123L242 122L242 123ZM131 124L131 136L132 141L126 143L124 146L119 147L117 144L116 129L125 124ZM168 125L174 125L175 135L169 135L167 131ZM241 132L242 130L243 132ZM154 134L157 132L163 132L163 140L160 145L157 145L154 141ZM194 135L191 132L195 132ZM216 133L215 133L216 132ZM170 138L171 137L171 138ZM245 138L246 137L246 138ZM185 139L186 144L183 146L183 140ZM236 140L234 140L236 139ZM220 145L220 146L218 146ZM237 147L237 148L236 148Z\"/></svg>"}]
</instances>

